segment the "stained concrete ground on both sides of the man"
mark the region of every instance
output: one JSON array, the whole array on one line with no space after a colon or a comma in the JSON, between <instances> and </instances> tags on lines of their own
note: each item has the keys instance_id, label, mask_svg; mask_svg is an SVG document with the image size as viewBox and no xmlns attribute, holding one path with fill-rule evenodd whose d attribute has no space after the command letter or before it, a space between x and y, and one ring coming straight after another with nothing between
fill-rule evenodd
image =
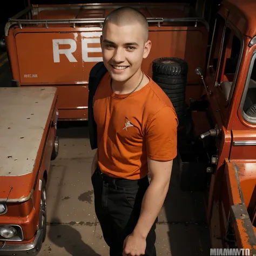
<instances>
[{"instance_id":1,"label":"stained concrete ground on both sides of the man","mask_svg":"<svg viewBox=\"0 0 256 256\"><path fill-rule=\"evenodd\" d=\"M59 155L47 184L47 237L39 256L109 255L93 205L90 166L95 152L87 134L82 122L58 127ZM203 194L180 190L176 164L159 214L156 247L158 255L210 255Z\"/></svg>"}]
</instances>

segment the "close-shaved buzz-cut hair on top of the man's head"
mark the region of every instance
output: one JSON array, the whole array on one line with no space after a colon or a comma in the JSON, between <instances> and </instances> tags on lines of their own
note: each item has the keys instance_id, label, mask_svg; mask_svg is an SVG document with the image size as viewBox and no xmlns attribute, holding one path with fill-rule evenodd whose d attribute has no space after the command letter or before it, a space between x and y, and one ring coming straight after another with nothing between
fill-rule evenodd
<instances>
[{"instance_id":1,"label":"close-shaved buzz-cut hair on top of the man's head","mask_svg":"<svg viewBox=\"0 0 256 256\"><path fill-rule=\"evenodd\" d=\"M142 26L145 42L149 37L149 23L147 23L146 17L142 14L142 12L131 8L130 6L120 7L110 12L103 23L103 33L107 23L116 24L118 26L134 25L137 23Z\"/></svg>"}]
</instances>

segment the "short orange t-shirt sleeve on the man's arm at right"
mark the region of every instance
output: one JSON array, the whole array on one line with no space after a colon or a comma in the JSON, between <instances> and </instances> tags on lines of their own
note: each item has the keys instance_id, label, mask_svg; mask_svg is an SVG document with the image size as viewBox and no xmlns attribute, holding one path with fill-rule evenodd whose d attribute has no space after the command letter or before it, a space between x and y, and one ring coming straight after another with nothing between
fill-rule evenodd
<instances>
[{"instance_id":1,"label":"short orange t-shirt sleeve on the man's arm at right","mask_svg":"<svg viewBox=\"0 0 256 256\"><path fill-rule=\"evenodd\" d=\"M178 118L165 106L149 119L146 127L147 156L152 160L172 160L177 156Z\"/></svg>"}]
</instances>

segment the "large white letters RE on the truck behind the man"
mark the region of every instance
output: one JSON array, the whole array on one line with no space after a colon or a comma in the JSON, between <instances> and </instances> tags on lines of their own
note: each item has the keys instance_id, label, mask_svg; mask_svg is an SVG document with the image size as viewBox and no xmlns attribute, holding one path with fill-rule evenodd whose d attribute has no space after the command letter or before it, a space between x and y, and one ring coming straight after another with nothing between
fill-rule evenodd
<instances>
[{"instance_id":1,"label":"large white letters RE on the truck behind the man","mask_svg":"<svg viewBox=\"0 0 256 256\"><path fill-rule=\"evenodd\" d=\"M86 34L86 36L89 33ZM91 34L91 33L90 33ZM98 35L94 35L98 36ZM101 48L89 47L89 44L99 44L99 38L82 38L82 60L83 62L101 62L103 60L102 57L89 57L89 52L102 52ZM69 49L59 49L60 44L69 44ZM66 58L68 58L69 62L77 62L77 59L73 56L73 52L77 49L76 41L73 39L53 39L53 61L60 62L59 55L64 54Z\"/></svg>"}]
</instances>

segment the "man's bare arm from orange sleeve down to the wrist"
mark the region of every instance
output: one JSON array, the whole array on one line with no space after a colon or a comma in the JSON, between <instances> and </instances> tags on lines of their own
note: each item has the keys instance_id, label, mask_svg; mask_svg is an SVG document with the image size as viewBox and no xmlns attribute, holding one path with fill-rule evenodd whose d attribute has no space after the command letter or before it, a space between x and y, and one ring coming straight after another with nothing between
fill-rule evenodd
<instances>
[{"instance_id":1,"label":"man's bare arm from orange sleeve down to the wrist","mask_svg":"<svg viewBox=\"0 0 256 256\"><path fill-rule=\"evenodd\" d=\"M169 189L172 164L171 161L148 159L151 183L147 188L142 202L142 210L133 234L146 238L156 220Z\"/></svg>"}]
</instances>

